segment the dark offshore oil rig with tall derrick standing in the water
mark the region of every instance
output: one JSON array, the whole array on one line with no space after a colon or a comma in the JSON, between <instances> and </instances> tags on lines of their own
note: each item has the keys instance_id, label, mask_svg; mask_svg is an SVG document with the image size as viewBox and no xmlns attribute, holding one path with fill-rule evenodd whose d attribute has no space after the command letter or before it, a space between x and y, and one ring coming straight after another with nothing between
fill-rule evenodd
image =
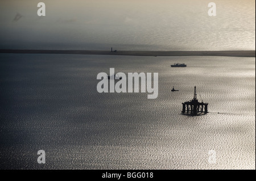
<instances>
[{"instance_id":1,"label":"dark offshore oil rig with tall derrick standing in the water","mask_svg":"<svg viewBox=\"0 0 256 181\"><path fill-rule=\"evenodd\" d=\"M195 86L195 92L194 92L194 98L193 100L190 100L189 102L182 103L183 109L182 113L191 114L193 116L206 114L208 113L208 103L199 102L196 97L196 86Z\"/></svg>"}]
</instances>

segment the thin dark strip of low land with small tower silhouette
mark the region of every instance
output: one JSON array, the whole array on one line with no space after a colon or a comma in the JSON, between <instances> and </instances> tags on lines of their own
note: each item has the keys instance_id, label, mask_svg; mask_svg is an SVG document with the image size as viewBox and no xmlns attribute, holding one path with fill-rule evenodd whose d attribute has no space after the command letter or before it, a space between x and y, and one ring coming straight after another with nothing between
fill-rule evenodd
<instances>
[{"instance_id":1,"label":"thin dark strip of low land with small tower silhouette","mask_svg":"<svg viewBox=\"0 0 256 181\"><path fill-rule=\"evenodd\" d=\"M226 56L255 57L255 50L224 51L122 51L109 50L32 50L32 49L0 49L0 53L43 53L43 54L101 54L119 56Z\"/></svg>"}]
</instances>

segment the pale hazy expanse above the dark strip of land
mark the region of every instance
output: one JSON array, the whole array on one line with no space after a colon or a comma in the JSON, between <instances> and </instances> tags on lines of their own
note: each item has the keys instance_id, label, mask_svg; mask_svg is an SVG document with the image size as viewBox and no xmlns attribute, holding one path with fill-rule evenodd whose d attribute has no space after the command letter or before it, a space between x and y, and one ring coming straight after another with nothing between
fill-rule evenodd
<instances>
[{"instance_id":1,"label":"pale hazy expanse above the dark strip of land","mask_svg":"<svg viewBox=\"0 0 256 181\"><path fill-rule=\"evenodd\" d=\"M0 26L0 48L255 49L255 1L8 0Z\"/></svg>"}]
</instances>

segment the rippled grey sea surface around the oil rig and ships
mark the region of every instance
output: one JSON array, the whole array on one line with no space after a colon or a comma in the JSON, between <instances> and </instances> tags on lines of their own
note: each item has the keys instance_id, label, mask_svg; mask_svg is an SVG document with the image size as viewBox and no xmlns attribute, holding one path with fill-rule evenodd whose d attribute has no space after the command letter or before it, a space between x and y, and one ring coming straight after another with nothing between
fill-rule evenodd
<instances>
[{"instance_id":1,"label":"rippled grey sea surface around the oil rig and ships","mask_svg":"<svg viewBox=\"0 0 256 181\"><path fill-rule=\"evenodd\" d=\"M0 169L255 169L255 58L0 59ZM176 62L188 67L170 68ZM109 68L159 73L158 98L98 93L96 76ZM207 115L181 115L194 86ZM216 164L208 163L212 149Z\"/></svg>"}]
</instances>

